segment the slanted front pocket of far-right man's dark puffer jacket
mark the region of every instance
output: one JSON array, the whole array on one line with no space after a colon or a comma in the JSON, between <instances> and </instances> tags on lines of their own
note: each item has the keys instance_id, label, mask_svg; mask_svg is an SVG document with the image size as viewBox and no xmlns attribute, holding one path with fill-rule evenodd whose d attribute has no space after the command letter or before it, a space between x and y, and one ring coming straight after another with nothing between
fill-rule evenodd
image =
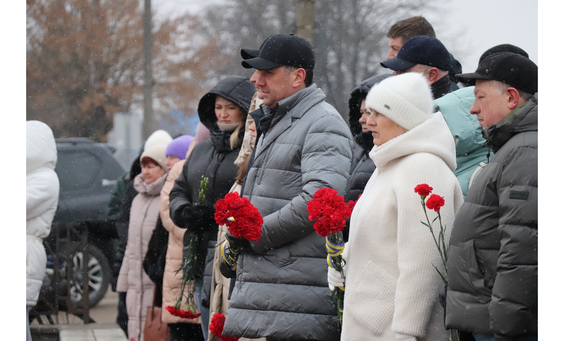
<instances>
[{"instance_id":1,"label":"slanted front pocket of far-right man's dark puffer jacket","mask_svg":"<svg viewBox=\"0 0 564 341\"><path fill-rule=\"evenodd\" d=\"M453 267L448 268L449 289L470 294L488 295L488 289L484 286L484 276L478 267L474 240L468 240L459 245L451 245L448 258L449 263L453 259L454 264Z\"/></svg>"}]
</instances>

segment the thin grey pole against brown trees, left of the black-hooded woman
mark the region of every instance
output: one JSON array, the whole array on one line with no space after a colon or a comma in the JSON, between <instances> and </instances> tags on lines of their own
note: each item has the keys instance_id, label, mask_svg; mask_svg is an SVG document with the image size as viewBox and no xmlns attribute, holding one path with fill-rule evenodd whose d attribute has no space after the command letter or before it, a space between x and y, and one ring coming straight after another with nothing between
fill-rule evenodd
<instances>
[{"instance_id":1,"label":"thin grey pole against brown trees, left of the black-hooded woman","mask_svg":"<svg viewBox=\"0 0 564 341\"><path fill-rule=\"evenodd\" d=\"M144 0L143 13L143 140L153 132L153 32L151 24L151 0Z\"/></svg>"}]
</instances>

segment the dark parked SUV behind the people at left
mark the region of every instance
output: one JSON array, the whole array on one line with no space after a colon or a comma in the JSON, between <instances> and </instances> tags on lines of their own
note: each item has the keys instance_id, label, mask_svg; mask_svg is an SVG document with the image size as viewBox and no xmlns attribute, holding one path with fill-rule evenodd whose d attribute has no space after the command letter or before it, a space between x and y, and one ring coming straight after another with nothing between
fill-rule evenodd
<instances>
[{"instance_id":1,"label":"dark parked SUV behind the people at left","mask_svg":"<svg viewBox=\"0 0 564 341\"><path fill-rule=\"evenodd\" d=\"M90 307L98 304L104 297L111 280L113 254L117 242L114 223L108 220L108 202L116 180L125 170L113 157L115 148L95 143L88 138L55 139L58 160L55 172L59 176L59 205L53 219L53 229L66 223L78 223L88 229L89 251L89 302ZM47 243L55 249L56 234L51 231ZM70 296L73 304L80 305L82 299L82 279L80 267L82 252L77 251L78 242L68 246L73 263ZM67 276L68 277L68 276Z\"/></svg>"}]
</instances>

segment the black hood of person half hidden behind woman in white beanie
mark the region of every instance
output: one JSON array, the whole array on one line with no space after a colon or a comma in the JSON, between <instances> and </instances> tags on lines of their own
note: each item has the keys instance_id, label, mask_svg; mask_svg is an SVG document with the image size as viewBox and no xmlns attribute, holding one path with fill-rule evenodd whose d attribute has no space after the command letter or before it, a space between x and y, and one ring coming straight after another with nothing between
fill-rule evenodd
<instances>
[{"instance_id":1,"label":"black hood of person half hidden behind woman in white beanie","mask_svg":"<svg viewBox=\"0 0 564 341\"><path fill-rule=\"evenodd\" d=\"M372 132L365 132L363 134L362 126L358 122L361 115L360 104L362 104L362 100L366 98L366 95L368 95L368 92L374 85L390 76L391 74L380 74L370 77L362 81L359 86L351 91L351 98L349 99L349 126L351 127L351 133L355 142L367 151L372 150L372 147L374 147L374 140Z\"/></svg>"}]
</instances>

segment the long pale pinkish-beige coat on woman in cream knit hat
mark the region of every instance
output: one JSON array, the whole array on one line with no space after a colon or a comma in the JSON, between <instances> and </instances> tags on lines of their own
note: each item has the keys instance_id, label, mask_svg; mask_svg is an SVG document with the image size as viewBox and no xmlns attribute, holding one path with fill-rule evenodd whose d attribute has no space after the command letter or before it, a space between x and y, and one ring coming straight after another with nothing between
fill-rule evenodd
<instances>
[{"instance_id":1,"label":"long pale pinkish-beige coat on woman in cream knit hat","mask_svg":"<svg viewBox=\"0 0 564 341\"><path fill-rule=\"evenodd\" d=\"M143 341L147 307L153 303L155 284L143 269L143 259L157 224L160 193L165 179L166 174L147 186L143 183L142 174L133 180L133 186L139 194L131 203L127 246L117 278L117 291L127 292L127 333L135 341Z\"/></svg>"}]
</instances>

